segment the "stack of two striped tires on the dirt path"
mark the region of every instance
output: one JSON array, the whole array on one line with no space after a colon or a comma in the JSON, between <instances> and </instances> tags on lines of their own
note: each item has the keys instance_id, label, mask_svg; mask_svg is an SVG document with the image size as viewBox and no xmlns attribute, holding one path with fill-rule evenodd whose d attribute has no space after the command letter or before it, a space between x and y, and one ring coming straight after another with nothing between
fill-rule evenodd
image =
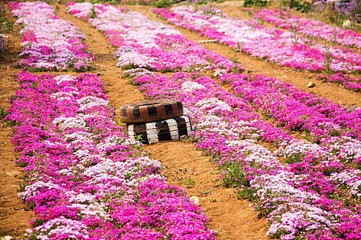
<instances>
[{"instance_id":1,"label":"stack of two striped tires on the dirt path","mask_svg":"<svg viewBox=\"0 0 361 240\"><path fill-rule=\"evenodd\" d=\"M138 101L120 108L120 120L131 139L142 143L179 140L192 130L190 119L183 115L183 105L178 100L157 99Z\"/></svg>"}]
</instances>

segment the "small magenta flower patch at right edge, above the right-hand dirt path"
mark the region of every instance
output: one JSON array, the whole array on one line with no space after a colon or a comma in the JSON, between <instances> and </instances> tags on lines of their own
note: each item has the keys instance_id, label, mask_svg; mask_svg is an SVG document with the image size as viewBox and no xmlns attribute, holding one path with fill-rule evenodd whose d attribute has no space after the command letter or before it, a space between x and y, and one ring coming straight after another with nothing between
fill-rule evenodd
<instances>
[{"instance_id":1,"label":"small magenta flower patch at right edge, above the right-hand dirt path","mask_svg":"<svg viewBox=\"0 0 361 240\"><path fill-rule=\"evenodd\" d=\"M344 73L335 73L333 75L318 75L317 79L322 82L341 84L344 88L355 92L361 91L361 77L356 79L355 77L351 77L350 75Z\"/></svg>"}]
</instances>

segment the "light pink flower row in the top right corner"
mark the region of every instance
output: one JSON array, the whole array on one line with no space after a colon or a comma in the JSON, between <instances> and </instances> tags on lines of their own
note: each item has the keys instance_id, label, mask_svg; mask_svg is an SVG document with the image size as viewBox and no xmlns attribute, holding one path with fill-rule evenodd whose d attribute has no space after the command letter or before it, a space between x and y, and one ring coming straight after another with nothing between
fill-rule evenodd
<instances>
[{"instance_id":1,"label":"light pink flower row in the top right corner","mask_svg":"<svg viewBox=\"0 0 361 240\"><path fill-rule=\"evenodd\" d=\"M300 18L281 10L251 10L253 17L272 23L276 27L292 29L298 34L304 34L313 38L320 38L329 43L338 43L343 46L357 47L361 49L361 34L351 30L344 30L322 21Z\"/></svg>"}]
</instances>

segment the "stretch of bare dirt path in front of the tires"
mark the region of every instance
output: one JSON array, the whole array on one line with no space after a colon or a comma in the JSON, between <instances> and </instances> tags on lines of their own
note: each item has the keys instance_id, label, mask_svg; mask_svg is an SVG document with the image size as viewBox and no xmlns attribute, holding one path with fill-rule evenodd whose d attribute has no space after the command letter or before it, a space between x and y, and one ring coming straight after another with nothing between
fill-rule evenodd
<instances>
[{"instance_id":1,"label":"stretch of bare dirt path in front of the tires","mask_svg":"<svg viewBox=\"0 0 361 240\"><path fill-rule=\"evenodd\" d=\"M250 202L237 200L234 189L219 186L219 171L192 143L168 141L143 149L162 162L168 184L184 187L188 197L199 198L216 239L267 239L267 219L260 219Z\"/></svg>"}]
</instances>

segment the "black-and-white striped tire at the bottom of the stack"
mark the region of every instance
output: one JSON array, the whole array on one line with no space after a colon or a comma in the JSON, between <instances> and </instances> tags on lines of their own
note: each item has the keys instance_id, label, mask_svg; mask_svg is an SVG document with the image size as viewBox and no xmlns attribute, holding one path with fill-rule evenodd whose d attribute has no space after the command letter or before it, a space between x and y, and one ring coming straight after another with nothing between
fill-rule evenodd
<instances>
[{"instance_id":1,"label":"black-and-white striped tire at the bottom of the stack","mask_svg":"<svg viewBox=\"0 0 361 240\"><path fill-rule=\"evenodd\" d=\"M131 139L141 136L142 143L157 143L159 141L179 140L181 136L188 136L192 130L190 119L187 115L153 121L151 123L128 124L125 126Z\"/></svg>"}]
</instances>

